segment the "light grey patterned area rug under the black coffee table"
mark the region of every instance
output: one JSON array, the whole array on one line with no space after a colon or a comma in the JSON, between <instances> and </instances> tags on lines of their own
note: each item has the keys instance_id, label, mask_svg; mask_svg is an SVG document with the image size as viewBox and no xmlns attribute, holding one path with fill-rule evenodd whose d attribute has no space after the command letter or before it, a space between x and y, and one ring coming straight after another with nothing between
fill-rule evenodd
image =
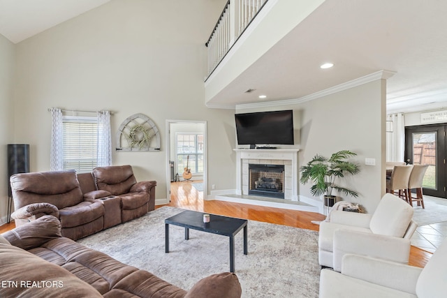
<instances>
[{"instance_id":1,"label":"light grey patterned area rug under the black coffee table","mask_svg":"<svg viewBox=\"0 0 447 298\"><path fill-rule=\"evenodd\" d=\"M194 283L230 270L228 237L170 225L165 253L165 218L183 211L161 207L145 216L98 232L80 244L189 290ZM235 274L242 297L318 297L318 233L284 225L249 221L248 255L242 231L235 237Z\"/></svg>"}]
</instances>

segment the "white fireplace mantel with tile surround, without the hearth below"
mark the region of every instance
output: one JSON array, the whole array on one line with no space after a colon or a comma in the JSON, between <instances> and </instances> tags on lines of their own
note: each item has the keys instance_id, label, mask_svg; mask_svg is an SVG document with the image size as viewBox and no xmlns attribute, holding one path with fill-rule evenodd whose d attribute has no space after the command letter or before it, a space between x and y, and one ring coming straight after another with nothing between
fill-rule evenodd
<instances>
[{"instance_id":1,"label":"white fireplace mantel with tile surround, without the hearth below","mask_svg":"<svg viewBox=\"0 0 447 298\"><path fill-rule=\"evenodd\" d=\"M244 189L245 165L248 163L279 164L283 163L290 170L286 174L284 199L298 201L298 151L299 149L234 149L236 152L236 194L247 195Z\"/></svg>"}]
</instances>

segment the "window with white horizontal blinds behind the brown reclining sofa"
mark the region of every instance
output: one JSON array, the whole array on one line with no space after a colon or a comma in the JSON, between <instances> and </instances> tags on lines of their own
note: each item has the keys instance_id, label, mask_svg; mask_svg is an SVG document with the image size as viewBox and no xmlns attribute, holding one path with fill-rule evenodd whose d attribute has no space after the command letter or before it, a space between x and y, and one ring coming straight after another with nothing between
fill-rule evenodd
<instances>
[{"instance_id":1,"label":"window with white horizontal blinds behind the brown reclining sofa","mask_svg":"<svg viewBox=\"0 0 447 298\"><path fill-rule=\"evenodd\" d=\"M91 172L97 164L98 119L64 116L62 130L64 170Z\"/></svg>"}]
</instances>

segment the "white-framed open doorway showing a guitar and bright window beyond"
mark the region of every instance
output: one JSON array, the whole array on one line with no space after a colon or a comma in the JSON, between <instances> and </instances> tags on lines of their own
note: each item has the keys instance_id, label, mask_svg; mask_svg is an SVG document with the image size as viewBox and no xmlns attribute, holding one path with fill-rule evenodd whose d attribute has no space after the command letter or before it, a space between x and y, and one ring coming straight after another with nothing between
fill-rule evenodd
<instances>
[{"instance_id":1,"label":"white-framed open doorway showing a guitar and bright window beyond","mask_svg":"<svg viewBox=\"0 0 447 298\"><path fill-rule=\"evenodd\" d=\"M167 201L171 195L201 200L207 193L206 121L166 120ZM191 190L191 191L188 191ZM198 195L200 193L200 195ZM203 202L198 202L200 204Z\"/></svg>"}]
</instances>

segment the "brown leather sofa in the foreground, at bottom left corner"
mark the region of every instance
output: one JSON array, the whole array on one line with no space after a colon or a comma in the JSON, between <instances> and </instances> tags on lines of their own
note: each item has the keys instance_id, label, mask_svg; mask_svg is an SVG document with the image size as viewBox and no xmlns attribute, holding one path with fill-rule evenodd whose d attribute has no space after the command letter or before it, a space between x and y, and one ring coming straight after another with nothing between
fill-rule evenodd
<instances>
[{"instance_id":1,"label":"brown leather sofa in the foreground, at bottom left corner","mask_svg":"<svg viewBox=\"0 0 447 298\"><path fill-rule=\"evenodd\" d=\"M186 291L148 271L61 237L54 216L0 235L0 297L239 298L235 274L207 276Z\"/></svg>"}]
</instances>

